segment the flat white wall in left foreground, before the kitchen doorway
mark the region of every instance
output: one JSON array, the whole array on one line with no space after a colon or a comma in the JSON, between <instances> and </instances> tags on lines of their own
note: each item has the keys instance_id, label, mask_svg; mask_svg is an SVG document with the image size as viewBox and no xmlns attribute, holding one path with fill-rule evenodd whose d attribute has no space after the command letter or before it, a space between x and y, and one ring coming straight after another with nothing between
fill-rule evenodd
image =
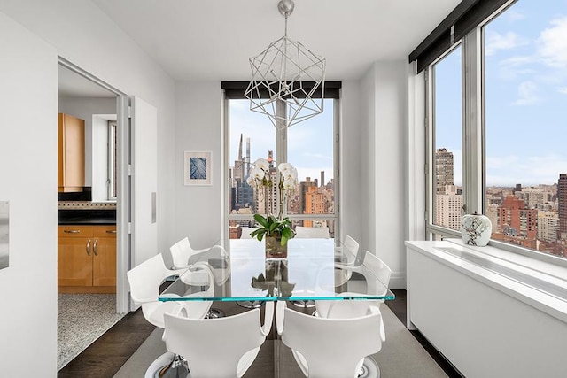
<instances>
[{"instance_id":1,"label":"flat white wall in left foreground, before the kitchen doorway","mask_svg":"<svg viewBox=\"0 0 567 378\"><path fill-rule=\"evenodd\" d=\"M0 35L0 200L10 201L10 266L0 270L0 371L23 376L32 364L54 377L57 51L3 13Z\"/></svg>"}]
</instances>

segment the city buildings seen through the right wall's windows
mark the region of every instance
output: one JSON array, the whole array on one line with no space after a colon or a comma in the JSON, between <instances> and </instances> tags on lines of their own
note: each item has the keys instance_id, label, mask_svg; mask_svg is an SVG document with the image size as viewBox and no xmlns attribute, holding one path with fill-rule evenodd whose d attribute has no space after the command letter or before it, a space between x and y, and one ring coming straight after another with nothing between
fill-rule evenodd
<instances>
[{"instance_id":1,"label":"city buildings seen through the right wall's windows","mask_svg":"<svg viewBox=\"0 0 567 378\"><path fill-rule=\"evenodd\" d=\"M433 223L462 228L462 190L451 181L452 152L436 150ZM490 187L483 212L492 222L491 239L567 257L567 174L553 185Z\"/></svg>"}]
</instances>

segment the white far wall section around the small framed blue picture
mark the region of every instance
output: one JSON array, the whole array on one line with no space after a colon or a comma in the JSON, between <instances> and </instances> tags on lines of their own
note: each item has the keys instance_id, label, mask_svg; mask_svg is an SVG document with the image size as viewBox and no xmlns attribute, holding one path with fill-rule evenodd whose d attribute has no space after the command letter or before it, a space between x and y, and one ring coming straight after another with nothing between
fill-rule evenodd
<instances>
[{"instance_id":1,"label":"white far wall section around the small framed blue picture","mask_svg":"<svg viewBox=\"0 0 567 378\"><path fill-rule=\"evenodd\" d=\"M221 239L224 215L221 82L178 82L175 95L174 240L188 236L192 247L206 248ZM183 184L183 152L186 150L212 152L211 186Z\"/></svg>"}]
</instances>

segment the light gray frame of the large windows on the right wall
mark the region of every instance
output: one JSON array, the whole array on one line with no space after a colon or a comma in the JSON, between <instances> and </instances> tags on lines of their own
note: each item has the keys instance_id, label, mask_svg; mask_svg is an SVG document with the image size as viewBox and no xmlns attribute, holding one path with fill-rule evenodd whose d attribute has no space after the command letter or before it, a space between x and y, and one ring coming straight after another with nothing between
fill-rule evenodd
<instances>
[{"instance_id":1,"label":"light gray frame of the large windows on the right wall","mask_svg":"<svg viewBox=\"0 0 567 378\"><path fill-rule=\"evenodd\" d=\"M485 213L486 211L486 141L485 141L485 25L492 19L506 12L509 6L517 0L509 1L496 12L484 19L463 35L462 39L455 41L438 58L424 68L424 117L425 117L425 239L436 240L440 238L461 238L461 233L435 225L434 200L435 195L435 86L434 67L442 58L462 45L462 195L465 213ZM557 266L567 267L567 258L561 258L541 251L531 250L522 246L490 239L488 245L495 248L517 253L519 255L535 258Z\"/></svg>"}]
</instances>

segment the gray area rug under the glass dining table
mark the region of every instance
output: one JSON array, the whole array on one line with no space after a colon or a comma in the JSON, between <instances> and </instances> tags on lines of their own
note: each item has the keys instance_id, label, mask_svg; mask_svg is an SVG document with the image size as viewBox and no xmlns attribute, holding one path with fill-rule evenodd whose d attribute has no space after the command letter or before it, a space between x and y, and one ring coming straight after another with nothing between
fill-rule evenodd
<instances>
[{"instance_id":1,"label":"gray area rug under the glass dining table","mask_svg":"<svg viewBox=\"0 0 567 378\"><path fill-rule=\"evenodd\" d=\"M387 306L382 305L380 311L384 317L386 341L382 350L373 357L380 366L382 378L447 377L447 374L431 359L427 351ZM114 375L114 378L143 377L151 362L166 352L165 344L161 340L162 332L159 328L153 331L120 368L118 373ZM269 378L274 376L271 367L274 361L273 343L273 341L268 340L262 345L258 358L246 372L244 378ZM291 356L291 351L285 346L280 348L280 376L282 378L303 377Z\"/></svg>"}]
</instances>

